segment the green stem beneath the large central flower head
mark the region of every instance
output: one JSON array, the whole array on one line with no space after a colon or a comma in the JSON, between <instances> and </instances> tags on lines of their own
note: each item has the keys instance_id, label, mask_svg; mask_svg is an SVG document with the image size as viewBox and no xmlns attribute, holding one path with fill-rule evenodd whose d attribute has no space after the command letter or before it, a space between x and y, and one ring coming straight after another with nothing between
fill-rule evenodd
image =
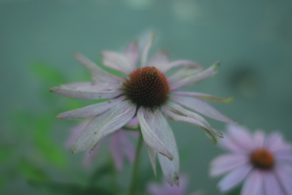
<instances>
[{"instance_id":1,"label":"green stem beneath the large central flower head","mask_svg":"<svg viewBox=\"0 0 292 195\"><path fill-rule=\"evenodd\" d=\"M134 195L137 188L139 157L140 157L140 153L142 149L142 144L143 144L143 136L140 129L129 195Z\"/></svg>"}]
</instances>

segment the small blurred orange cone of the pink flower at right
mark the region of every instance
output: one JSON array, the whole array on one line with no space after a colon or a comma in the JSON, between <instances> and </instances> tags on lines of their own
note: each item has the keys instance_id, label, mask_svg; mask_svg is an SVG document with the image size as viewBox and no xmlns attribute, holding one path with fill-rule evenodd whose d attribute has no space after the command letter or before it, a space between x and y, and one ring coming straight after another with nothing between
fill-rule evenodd
<instances>
[{"instance_id":1,"label":"small blurred orange cone of the pink flower at right","mask_svg":"<svg viewBox=\"0 0 292 195\"><path fill-rule=\"evenodd\" d=\"M251 154L251 162L257 168L271 169L274 165L274 157L270 151L261 148Z\"/></svg>"}]
</instances>

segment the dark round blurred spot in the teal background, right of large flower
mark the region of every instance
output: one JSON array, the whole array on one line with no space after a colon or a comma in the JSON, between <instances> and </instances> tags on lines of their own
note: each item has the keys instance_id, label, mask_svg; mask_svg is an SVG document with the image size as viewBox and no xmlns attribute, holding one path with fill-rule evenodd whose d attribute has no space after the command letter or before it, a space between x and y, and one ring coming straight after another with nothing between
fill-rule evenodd
<instances>
[{"instance_id":1,"label":"dark round blurred spot in the teal background, right of large flower","mask_svg":"<svg viewBox=\"0 0 292 195\"><path fill-rule=\"evenodd\" d=\"M257 97L261 90L259 75L252 68L247 67L246 64L237 67L239 68L231 73L228 81L231 87L245 98Z\"/></svg>"}]
</instances>

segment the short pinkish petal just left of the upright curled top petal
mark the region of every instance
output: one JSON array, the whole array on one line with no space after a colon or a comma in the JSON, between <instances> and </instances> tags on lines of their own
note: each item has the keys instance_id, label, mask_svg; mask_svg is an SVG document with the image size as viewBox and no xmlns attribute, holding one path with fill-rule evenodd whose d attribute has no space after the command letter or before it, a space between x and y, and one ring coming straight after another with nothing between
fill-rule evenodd
<instances>
[{"instance_id":1,"label":"short pinkish petal just left of the upright curled top petal","mask_svg":"<svg viewBox=\"0 0 292 195\"><path fill-rule=\"evenodd\" d=\"M137 69L137 62L139 60L139 45L138 41L132 41L124 51L124 55L127 60L130 62L130 65L133 69Z\"/></svg>"}]
</instances>

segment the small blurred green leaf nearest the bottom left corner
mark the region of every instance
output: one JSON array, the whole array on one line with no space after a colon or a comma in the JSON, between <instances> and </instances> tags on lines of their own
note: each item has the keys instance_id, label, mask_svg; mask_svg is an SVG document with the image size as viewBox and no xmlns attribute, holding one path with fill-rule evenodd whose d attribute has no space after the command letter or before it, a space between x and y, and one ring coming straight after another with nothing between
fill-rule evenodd
<instances>
[{"instance_id":1,"label":"small blurred green leaf nearest the bottom left corner","mask_svg":"<svg viewBox=\"0 0 292 195\"><path fill-rule=\"evenodd\" d=\"M35 163L27 160L20 161L18 165L18 170L23 176L25 176L26 179L44 181L49 178L40 167L38 167Z\"/></svg>"}]
</instances>

